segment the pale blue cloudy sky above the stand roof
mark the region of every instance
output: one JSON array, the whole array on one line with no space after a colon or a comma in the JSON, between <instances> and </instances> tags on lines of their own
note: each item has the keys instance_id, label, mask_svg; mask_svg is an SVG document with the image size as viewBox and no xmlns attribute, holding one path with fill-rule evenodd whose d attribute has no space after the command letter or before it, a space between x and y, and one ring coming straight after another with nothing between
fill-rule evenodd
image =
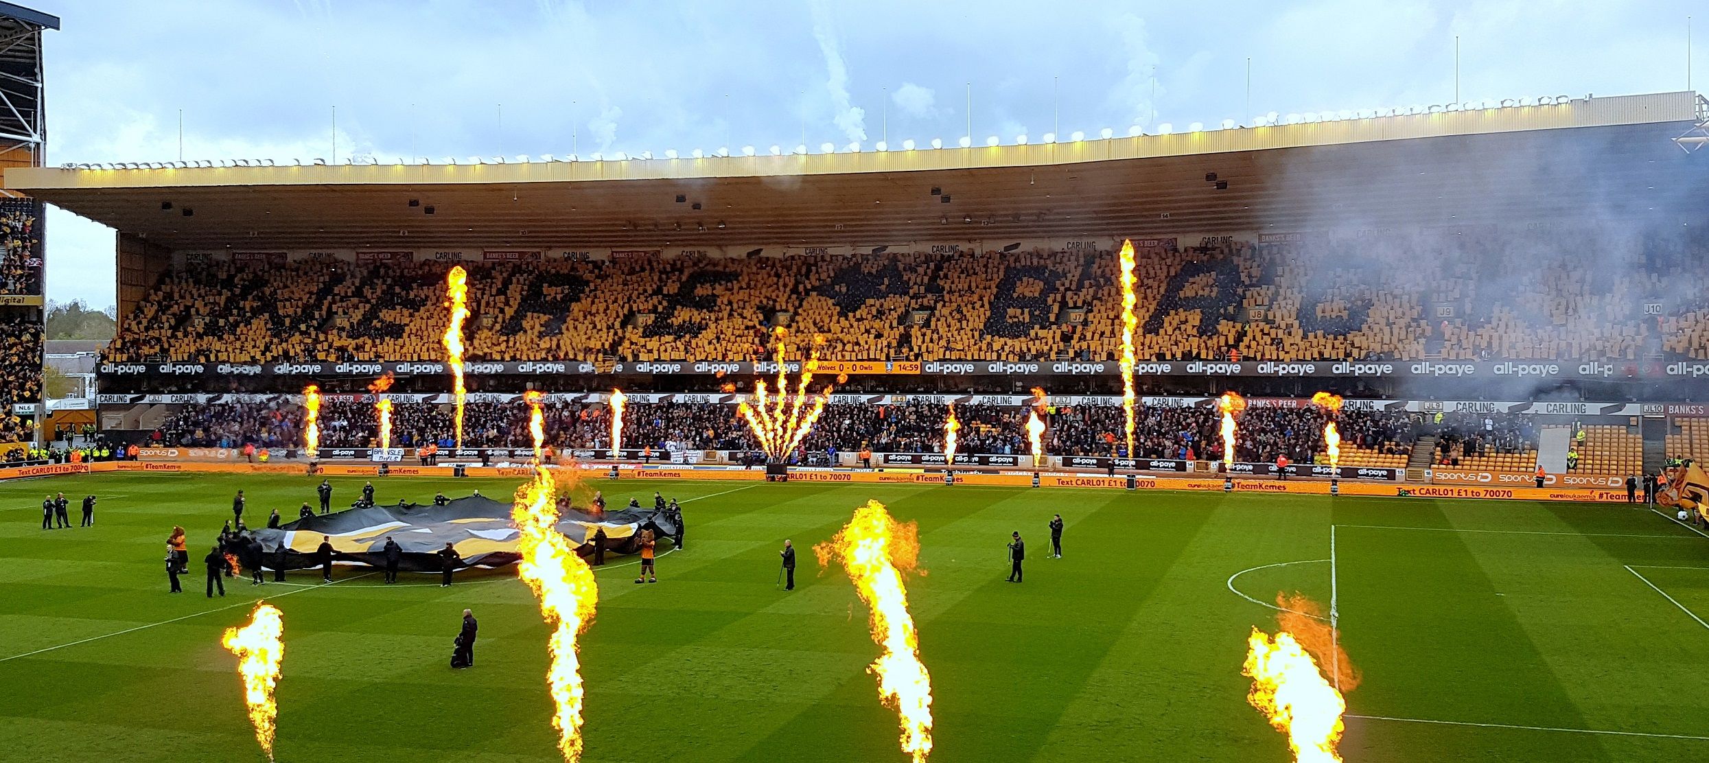
<instances>
[{"instance_id":1,"label":"pale blue cloudy sky above the stand roof","mask_svg":"<svg viewBox=\"0 0 1709 763\"><path fill-rule=\"evenodd\" d=\"M1456 36L1463 101L1682 90L1694 10L1709 77L1688 0L24 3L63 20L55 166L178 159L179 113L183 159L1119 135L1448 102ZM50 299L113 304L111 230L48 230Z\"/></svg>"}]
</instances>

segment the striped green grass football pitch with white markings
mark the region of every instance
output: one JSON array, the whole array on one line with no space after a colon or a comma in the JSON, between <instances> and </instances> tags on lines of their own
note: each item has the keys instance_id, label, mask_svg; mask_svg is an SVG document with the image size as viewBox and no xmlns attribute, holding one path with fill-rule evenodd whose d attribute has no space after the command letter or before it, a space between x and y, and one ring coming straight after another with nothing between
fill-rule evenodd
<instances>
[{"instance_id":1,"label":"striped green grass football pitch with white markings","mask_svg":"<svg viewBox=\"0 0 1709 763\"><path fill-rule=\"evenodd\" d=\"M514 572L202 596L200 558L243 488L287 517L306 476L94 475L0 485L0 760L253 761L222 628L258 596L285 616L280 761L554 761L547 628ZM361 480L333 480L349 504ZM508 495L516 480L381 480L381 502ZM1709 538L1646 509L1109 490L600 481L612 505L685 500L687 550L660 584L602 568L581 637L588 761L899 761L877 647L813 543L866 498L919 522L909 597L931 671L935 761L1287 761L1246 705L1249 630L1299 591L1340 604L1364 674L1348 761L1709 760ZM41 531L63 490L92 529ZM1068 522L1046 558L1044 522ZM166 592L173 524L191 539ZM1333 527L1333 529L1331 529ZM1027 539L1027 579L1003 580ZM778 548L802 551L774 589ZM1277 565L1277 567L1266 567ZM1251 570L1251 572L1242 572ZM1234 577L1230 584L1230 575ZM1239 591L1236 594L1232 589ZM477 666L451 671L463 608ZM1702 618L1702 620L1700 620ZM1487 725L1477 725L1487 724Z\"/></svg>"}]
</instances>

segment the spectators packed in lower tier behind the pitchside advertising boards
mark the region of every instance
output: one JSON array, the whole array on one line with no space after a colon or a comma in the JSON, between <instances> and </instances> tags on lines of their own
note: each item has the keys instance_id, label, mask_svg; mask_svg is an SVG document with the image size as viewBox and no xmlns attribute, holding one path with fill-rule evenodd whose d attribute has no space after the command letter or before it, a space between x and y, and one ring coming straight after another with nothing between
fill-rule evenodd
<instances>
[{"instance_id":1,"label":"spectators packed in lower tier behind the pitchside advertising boards","mask_svg":"<svg viewBox=\"0 0 1709 763\"><path fill-rule=\"evenodd\" d=\"M545 403L547 444L555 449L610 447L610 410L603 403ZM825 406L803 452L942 452L942 403ZM1025 454L1027 408L960 405L957 451L972 454ZM1056 456L1125 456L1125 415L1119 406L1048 406L1044 449ZM1324 452L1326 413L1306 408L1248 408L1239 420L1236 459L1275 461L1287 456L1311 463ZM190 405L150 439L166 446L294 447L301 446L302 410L296 403ZM1338 416L1343 446L1384 454L1408 454L1420 425L1417 415L1347 410ZM393 406L393 447L455 444L453 408L434 403ZM1135 422L1140 457L1220 459L1220 415L1212 408L1142 408ZM1506 427L1506 423L1504 423ZM321 449L378 444L371 403L333 399L321 405ZM468 403L465 447L528 447L528 411L521 405ZM754 451L757 440L735 406L716 403L629 403L624 447L665 451Z\"/></svg>"}]
</instances>

